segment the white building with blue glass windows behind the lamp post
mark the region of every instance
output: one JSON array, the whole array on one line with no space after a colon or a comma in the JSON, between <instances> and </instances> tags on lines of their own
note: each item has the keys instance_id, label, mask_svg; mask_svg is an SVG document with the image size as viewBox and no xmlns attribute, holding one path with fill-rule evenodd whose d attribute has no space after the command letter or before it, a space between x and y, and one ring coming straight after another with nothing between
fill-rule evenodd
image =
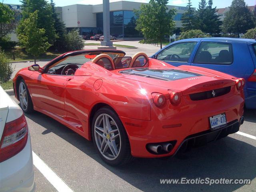
<instances>
[{"instance_id":1,"label":"white building with blue glass windows behind the lamp post","mask_svg":"<svg viewBox=\"0 0 256 192\"><path fill-rule=\"evenodd\" d=\"M138 10L143 3L118 1L110 3L110 34L119 38L140 38L142 34L135 30L136 15L133 10ZM181 17L187 7L167 6L176 9L174 20L177 32L182 27ZM103 33L103 6L75 4L57 7L61 20L66 24L67 30L79 28L80 35Z\"/></svg>"}]
</instances>

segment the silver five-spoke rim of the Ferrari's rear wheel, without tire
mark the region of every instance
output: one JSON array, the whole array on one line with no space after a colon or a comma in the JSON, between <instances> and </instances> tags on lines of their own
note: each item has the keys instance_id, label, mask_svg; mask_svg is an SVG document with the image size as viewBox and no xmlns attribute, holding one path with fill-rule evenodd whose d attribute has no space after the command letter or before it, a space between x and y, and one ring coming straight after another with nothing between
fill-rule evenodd
<instances>
[{"instance_id":1,"label":"silver five-spoke rim of the Ferrari's rear wheel, without tire","mask_svg":"<svg viewBox=\"0 0 256 192\"><path fill-rule=\"evenodd\" d=\"M118 157L121 137L118 126L108 114L100 114L94 124L94 138L100 153L108 160Z\"/></svg>"}]
</instances>

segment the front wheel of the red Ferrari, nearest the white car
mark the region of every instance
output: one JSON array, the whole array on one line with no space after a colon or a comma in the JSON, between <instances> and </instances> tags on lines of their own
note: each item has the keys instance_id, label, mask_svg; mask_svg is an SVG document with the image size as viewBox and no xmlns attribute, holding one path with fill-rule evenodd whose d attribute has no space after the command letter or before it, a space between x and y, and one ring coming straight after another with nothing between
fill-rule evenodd
<instances>
[{"instance_id":1,"label":"front wheel of the red Ferrari, nearest the white car","mask_svg":"<svg viewBox=\"0 0 256 192\"><path fill-rule=\"evenodd\" d=\"M32 112L33 103L28 92L28 87L26 86L25 81L22 79L19 82L19 89L18 89L19 99L20 99L20 106L25 113Z\"/></svg>"}]
</instances>

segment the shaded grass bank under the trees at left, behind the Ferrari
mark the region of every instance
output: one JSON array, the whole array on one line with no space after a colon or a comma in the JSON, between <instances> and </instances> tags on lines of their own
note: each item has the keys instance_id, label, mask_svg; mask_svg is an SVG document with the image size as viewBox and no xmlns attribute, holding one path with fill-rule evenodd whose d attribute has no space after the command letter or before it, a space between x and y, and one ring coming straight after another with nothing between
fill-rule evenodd
<instances>
[{"instance_id":1,"label":"shaded grass bank under the trees at left, behind the Ferrari","mask_svg":"<svg viewBox=\"0 0 256 192\"><path fill-rule=\"evenodd\" d=\"M15 47L12 50L4 50L5 54L7 55L8 59L10 59L10 61L28 61L28 60L34 60L33 56L30 56L26 53L26 51L20 47ZM13 60L13 52L15 55L15 60ZM57 56L59 56L60 54L62 54L62 52L46 52L42 55L40 55L38 58L36 58L37 60L41 60L41 59L54 59Z\"/></svg>"}]
</instances>

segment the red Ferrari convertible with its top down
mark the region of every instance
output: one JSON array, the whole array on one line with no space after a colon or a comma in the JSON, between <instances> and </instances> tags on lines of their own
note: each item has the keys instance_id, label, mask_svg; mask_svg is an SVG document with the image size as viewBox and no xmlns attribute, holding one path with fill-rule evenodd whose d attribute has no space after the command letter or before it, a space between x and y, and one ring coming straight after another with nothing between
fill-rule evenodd
<instances>
[{"instance_id":1,"label":"red Ferrari convertible with its top down","mask_svg":"<svg viewBox=\"0 0 256 192\"><path fill-rule=\"evenodd\" d=\"M172 156L239 130L244 79L124 55L81 50L34 64L13 79L16 98L24 112L42 112L93 140L111 165Z\"/></svg>"}]
</instances>

